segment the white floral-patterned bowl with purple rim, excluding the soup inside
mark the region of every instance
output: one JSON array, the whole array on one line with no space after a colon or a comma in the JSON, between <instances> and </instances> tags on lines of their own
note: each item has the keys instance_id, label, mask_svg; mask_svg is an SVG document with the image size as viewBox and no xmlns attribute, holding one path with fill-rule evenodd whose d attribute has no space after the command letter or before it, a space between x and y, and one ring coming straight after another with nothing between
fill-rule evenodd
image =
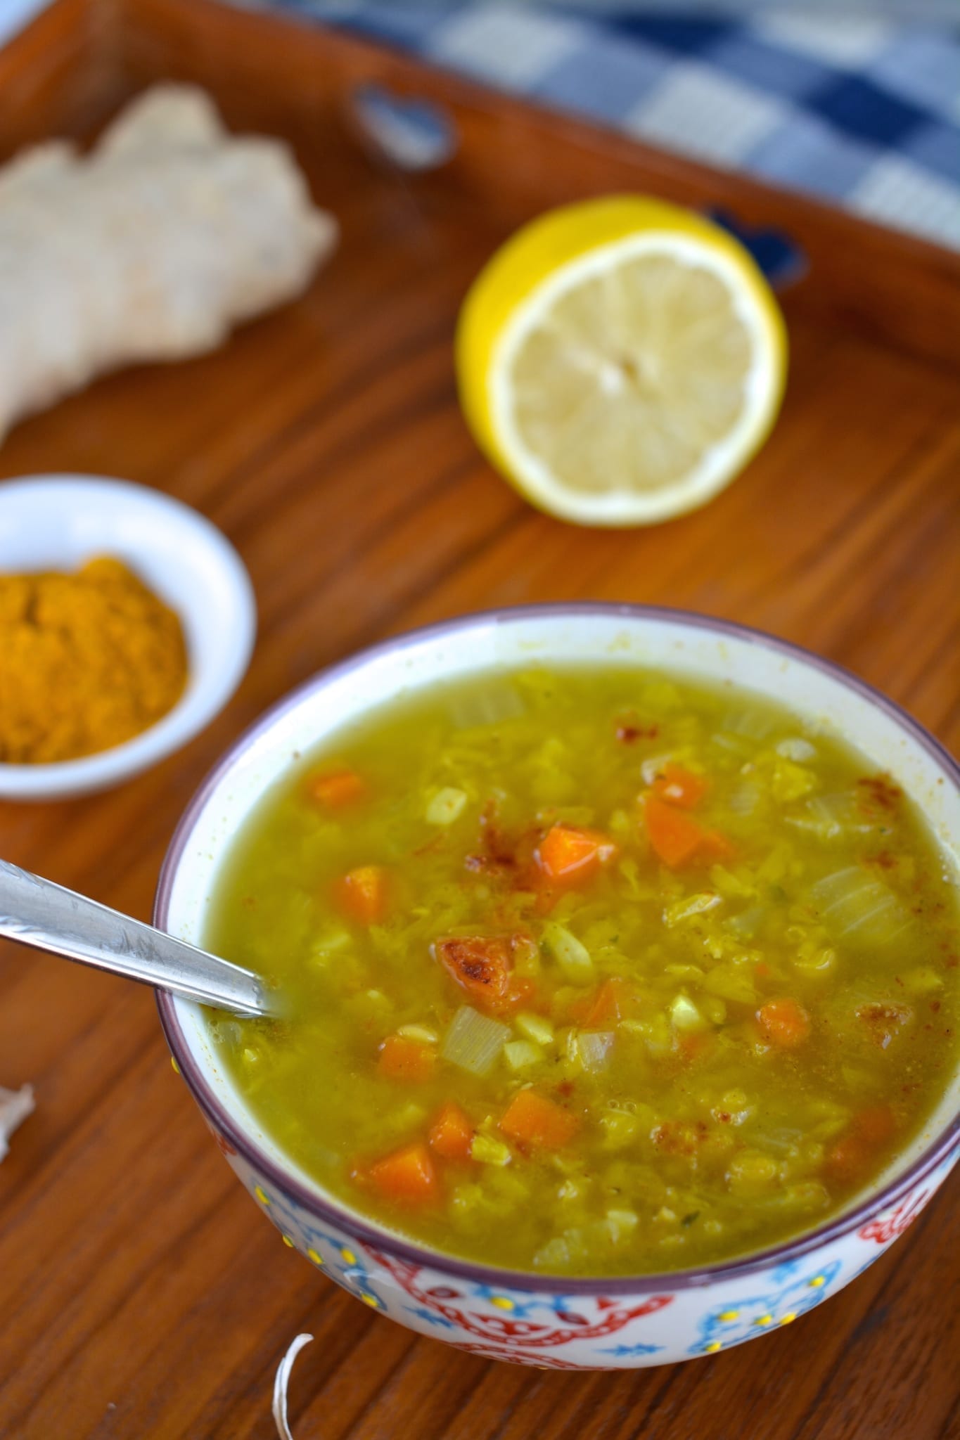
<instances>
[{"instance_id":1,"label":"white floral-patterned bowl with purple rim, excluding the soup inside","mask_svg":"<svg viewBox=\"0 0 960 1440\"><path fill-rule=\"evenodd\" d=\"M636 661L776 696L855 740L925 811L944 857L960 851L960 772L914 720L862 681L721 621L630 606L538 606L399 636L317 675L255 724L190 802L167 854L155 923L201 942L219 863L291 757L400 691L498 664ZM960 1155L960 1077L924 1132L851 1207L766 1253L698 1272L551 1279L430 1251L325 1195L289 1162L216 1064L203 1011L158 998L174 1064L256 1204L284 1240L413 1331L459 1349L557 1369L662 1365L738 1345L858 1276L901 1234Z\"/></svg>"}]
</instances>

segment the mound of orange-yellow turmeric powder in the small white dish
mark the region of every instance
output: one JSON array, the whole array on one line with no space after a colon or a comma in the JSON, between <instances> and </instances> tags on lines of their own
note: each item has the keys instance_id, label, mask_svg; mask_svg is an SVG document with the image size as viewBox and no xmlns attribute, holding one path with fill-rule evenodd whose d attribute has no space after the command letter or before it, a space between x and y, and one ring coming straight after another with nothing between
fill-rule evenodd
<instances>
[{"instance_id":1,"label":"mound of orange-yellow turmeric powder in the small white dish","mask_svg":"<svg viewBox=\"0 0 960 1440\"><path fill-rule=\"evenodd\" d=\"M0 575L0 762L121 744L173 708L186 678L178 616L121 560Z\"/></svg>"}]
</instances>

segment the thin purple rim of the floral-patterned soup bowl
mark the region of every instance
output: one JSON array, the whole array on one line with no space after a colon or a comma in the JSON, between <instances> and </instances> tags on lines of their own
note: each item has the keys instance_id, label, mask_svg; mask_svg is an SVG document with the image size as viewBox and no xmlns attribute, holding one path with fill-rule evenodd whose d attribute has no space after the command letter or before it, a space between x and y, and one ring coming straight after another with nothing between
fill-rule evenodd
<instances>
[{"instance_id":1,"label":"thin purple rim of the floral-patterned soup bowl","mask_svg":"<svg viewBox=\"0 0 960 1440\"><path fill-rule=\"evenodd\" d=\"M855 694L859 694L868 704L882 710L938 763L938 766L960 789L960 765L957 765L950 752L933 734L930 734L930 732L918 720L915 720L894 700L889 700L889 697L882 694L882 691L877 690L868 681L855 675L843 665L825 660L822 655L818 655L802 645L793 644L793 641L780 639L776 635L770 635L756 626L741 625L737 621L725 621L712 615L701 615L697 611L672 609L665 605L626 605L584 600L499 606L497 609L458 615L446 621L439 621L433 625L419 626L417 629L403 631L400 635L390 635L374 645L345 657L341 661L335 661L332 665L317 671L308 680L302 681L286 696L282 696L250 726L248 726L248 729L242 732L242 734L200 782L173 832L157 883L153 914L154 924L158 929L166 929L174 874L187 845L187 840L194 828L196 818L207 804L210 795L233 769L239 757L246 753L246 750L249 750L249 747L262 734L271 730L284 714L299 706L314 691L322 690L324 687L341 680L344 675L351 674L371 661L390 654L391 651L404 649L422 641L456 635L478 625L489 625L491 622L522 622L525 619L543 618L564 619L592 615L612 619L622 618L625 621L664 621L672 625L688 626L689 629L711 631L728 635L734 639L744 639L748 644L761 645L767 649L777 651L790 660L799 660L802 664L810 665L813 670L819 670L830 678L839 680L842 685L852 690ZM902 1200L902 1197L914 1185L924 1181L930 1174L938 1169L940 1165L950 1156L957 1140L960 1140L960 1112L957 1112L941 1135L938 1135L937 1139L927 1146L914 1164L869 1200L862 1201L853 1210L842 1211L833 1220L826 1221L816 1230L805 1231L796 1240L771 1246L763 1251L753 1251L741 1259L720 1261L714 1266L702 1266L695 1270L668 1270L656 1274L636 1276L541 1276L527 1270L507 1270L497 1266L476 1264L472 1260L449 1256L440 1250L430 1250L429 1247L419 1246L386 1227L379 1228L377 1225L368 1224L345 1205L340 1205L335 1201L315 1194L312 1189L308 1189L307 1185L301 1184L295 1175L286 1174L282 1166L272 1159L272 1156L261 1151L256 1142L240 1130L237 1125L235 1125L227 1110L220 1104L213 1089L207 1084L200 1067L194 1063L186 1044L180 1020L177 1017L176 999L164 991L157 991L155 995L157 1009L160 1011L160 1024L167 1038L167 1044L170 1045L171 1056L200 1110L216 1125L216 1129L235 1146L237 1153L240 1153L249 1165L258 1169L271 1185L275 1185L281 1192L289 1195L296 1201L296 1204L299 1204L309 1214L315 1215L318 1220L345 1230L353 1238L371 1246L374 1250L387 1250L407 1263L426 1266L456 1279L472 1280L491 1287L521 1292L527 1290L534 1293L556 1293L560 1287L564 1295L596 1295L602 1290L604 1295L623 1296L652 1295L662 1293L665 1290L689 1290L721 1280L737 1280L754 1274L759 1270L767 1270L770 1266L779 1266L786 1261L800 1259L813 1250L819 1250L822 1246L853 1234L862 1228L866 1221L875 1218L882 1210L887 1210L889 1205ZM879 1256L879 1253L881 1251L878 1250L877 1254Z\"/></svg>"}]
</instances>

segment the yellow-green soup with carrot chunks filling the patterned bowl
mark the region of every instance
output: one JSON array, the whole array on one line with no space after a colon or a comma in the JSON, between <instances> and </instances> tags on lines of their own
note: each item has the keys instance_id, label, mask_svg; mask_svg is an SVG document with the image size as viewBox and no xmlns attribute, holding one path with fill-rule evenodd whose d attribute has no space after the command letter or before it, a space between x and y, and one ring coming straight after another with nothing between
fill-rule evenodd
<instances>
[{"instance_id":1,"label":"yellow-green soup with carrot chunks filling the patterned bowl","mask_svg":"<svg viewBox=\"0 0 960 1440\"><path fill-rule=\"evenodd\" d=\"M822 1223L957 1063L956 877L849 747L756 696L530 670L298 762L204 943L263 1129L348 1205L488 1264L698 1266Z\"/></svg>"}]
</instances>

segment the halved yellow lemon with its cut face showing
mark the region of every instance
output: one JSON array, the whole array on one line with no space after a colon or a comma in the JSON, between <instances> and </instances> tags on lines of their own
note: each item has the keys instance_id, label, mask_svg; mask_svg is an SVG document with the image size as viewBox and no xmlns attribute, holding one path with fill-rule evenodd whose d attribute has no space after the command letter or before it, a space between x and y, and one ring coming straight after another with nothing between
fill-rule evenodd
<instances>
[{"instance_id":1,"label":"halved yellow lemon with its cut face showing","mask_svg":"<svg viewBox=\"0 0 960 1440\"><path fill-rule=\"evenodd\" d=\"M481 449L534 505L587 526L655 524L728 485L776 419L786 354L747 251L642 196L525 225L456 333Z\"/></svg>"}]
</instances>

